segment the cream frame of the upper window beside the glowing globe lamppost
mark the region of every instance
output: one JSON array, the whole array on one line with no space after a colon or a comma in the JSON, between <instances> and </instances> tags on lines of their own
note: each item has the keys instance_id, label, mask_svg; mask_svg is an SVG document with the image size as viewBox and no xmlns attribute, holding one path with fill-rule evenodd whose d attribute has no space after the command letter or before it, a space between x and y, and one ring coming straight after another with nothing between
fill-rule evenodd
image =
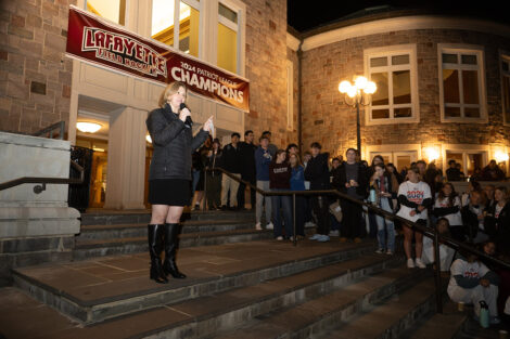
<instances>
[{"instance_id":1,"label":"cream frame of the upper window beside the glowing globe lamppost","mask_svg":"<svg viewBox=\"0 0 510 339\"><path fill-rule=\"evenodd\" d=\"M370 60L373 57L388 57L395 55L408 54L409 55L409 66L406 65L387 65L382 67L370 67ZM410 76L410 90L411 90L411 116L409 118L395 118L392 114L394 108L398 108L398 106L407 106L407 104L398 104L395 107L395 104L388 104L387 107L391 110L390 118L385 119L372 119L372 104L365 107L365 123L367 126L378 126L378 125L393 125L393 123L415 123L420 122L420 102L418 95L418 63L417 63L417 45L416 43L411 44L396 44L396 45L387 45L382 48L373 48L373 49L366 49L364 51L364 58L365 58L365 74L366 77L370 80L371 74L375 73L372 71L373 69L386 69L385 71L392 73L395 70L407 70L409 69ZM388 78L390 79L390 78ZM393 79L393 77L392 77ZM393 80L392 80L393 81ZM391 90L388 92L388 97L393 95L393 83L391 86ZM386 106L386 105L385 105Z\"/></svg>"}]
</instances>

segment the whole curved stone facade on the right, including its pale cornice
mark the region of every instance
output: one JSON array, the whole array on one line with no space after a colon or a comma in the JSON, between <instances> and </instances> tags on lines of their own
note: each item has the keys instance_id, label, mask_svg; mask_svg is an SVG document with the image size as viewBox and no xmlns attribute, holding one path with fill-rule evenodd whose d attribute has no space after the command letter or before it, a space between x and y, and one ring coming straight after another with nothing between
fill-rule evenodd
<instances>
[{"instance_id":1,"label":"whole curved stone facade on the right, including its pale cornice","mask_svg":"<svg viewBox=\"0 0 510 339\"><path fill-rule=\"evenodd\" d=\"M383 153L396 162L392 153L412 151L415 159L428 160L425 153L432 147L438 153L438 165L444 167L450 154L482 152L482 166L497 155L508 156L510 127L508 118L505 121L502 101L510 93L502 87L501 65L510 55L510 27L476 19L397 14L394 18L385 14L352 19L302 37L303 146L319 141L332 155L356 147L356 109L344 104L339 83L356 75L370 78L370 51L385 55L404 47L412 51L416 65L416 69L411 66L417 86L416 119L370 121L370 108L361 107L362 157L370 161L375 153ZM439 50L445 47L482 51L479 69L485 117L482 114L480 119L449 121L442 113ZM470 161L469 157L464 160ZM502 166L508 173L508 160Z\"/></svg>"}]
</instances>

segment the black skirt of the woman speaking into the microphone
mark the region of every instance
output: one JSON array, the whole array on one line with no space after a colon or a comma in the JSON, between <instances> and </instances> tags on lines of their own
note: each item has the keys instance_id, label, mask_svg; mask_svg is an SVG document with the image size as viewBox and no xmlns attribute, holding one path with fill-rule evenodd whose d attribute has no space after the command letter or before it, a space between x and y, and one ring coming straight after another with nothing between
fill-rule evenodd
<instances>
[{"instance_id":1,"label":"black skirt of the woman speaking into the microphone","mask_svg":"<svg viewBox=\"0 0 510 339\"><path fill-rule=\"evenodd\" d=\"M191 198L191 181L184 179L149 180L149 204L188 206Z\"/></svg>"}]
</instances>

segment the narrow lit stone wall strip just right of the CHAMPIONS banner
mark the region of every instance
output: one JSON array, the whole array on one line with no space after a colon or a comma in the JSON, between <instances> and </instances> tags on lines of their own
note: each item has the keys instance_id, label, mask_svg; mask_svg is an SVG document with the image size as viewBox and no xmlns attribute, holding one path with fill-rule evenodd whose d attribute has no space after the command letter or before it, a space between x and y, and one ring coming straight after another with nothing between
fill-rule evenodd
<instances>
[{"instance_id":1,"label":"narrow lit stone wall strip just right of the CHAMPIONS banner","mask_svg":"<svg viewBox=\"0 0 510 339\"><path fill-rule=\"evenodd\" d=\"M286 131L286 1L244 2L245 76L250 79L251 95L245 128L253 130L256 139L270 130L272 142L285 147L289 142L297 141L296 125L294 131Z\"/></svg>"}]
</instances>

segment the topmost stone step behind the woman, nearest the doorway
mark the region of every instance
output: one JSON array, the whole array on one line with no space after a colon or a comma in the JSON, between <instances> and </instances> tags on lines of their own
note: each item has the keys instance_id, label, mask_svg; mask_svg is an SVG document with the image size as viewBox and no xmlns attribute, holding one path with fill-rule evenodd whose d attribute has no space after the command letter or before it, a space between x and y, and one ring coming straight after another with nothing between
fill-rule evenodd
<instances>
[{"instance_id":1,"label":"topmost stone step behind the woman, nearest the doorway","mask_svg":"<svg viewBox=\"0 0 510 339\"><path fill-rule=\"evenodd\" d=\"M182 214L182 220L245 220L255 222L255 212L240 211L192 211ZM81 214L81 225L148 224L150 210L88 211Z\"/></svg>"}]
</instances>

